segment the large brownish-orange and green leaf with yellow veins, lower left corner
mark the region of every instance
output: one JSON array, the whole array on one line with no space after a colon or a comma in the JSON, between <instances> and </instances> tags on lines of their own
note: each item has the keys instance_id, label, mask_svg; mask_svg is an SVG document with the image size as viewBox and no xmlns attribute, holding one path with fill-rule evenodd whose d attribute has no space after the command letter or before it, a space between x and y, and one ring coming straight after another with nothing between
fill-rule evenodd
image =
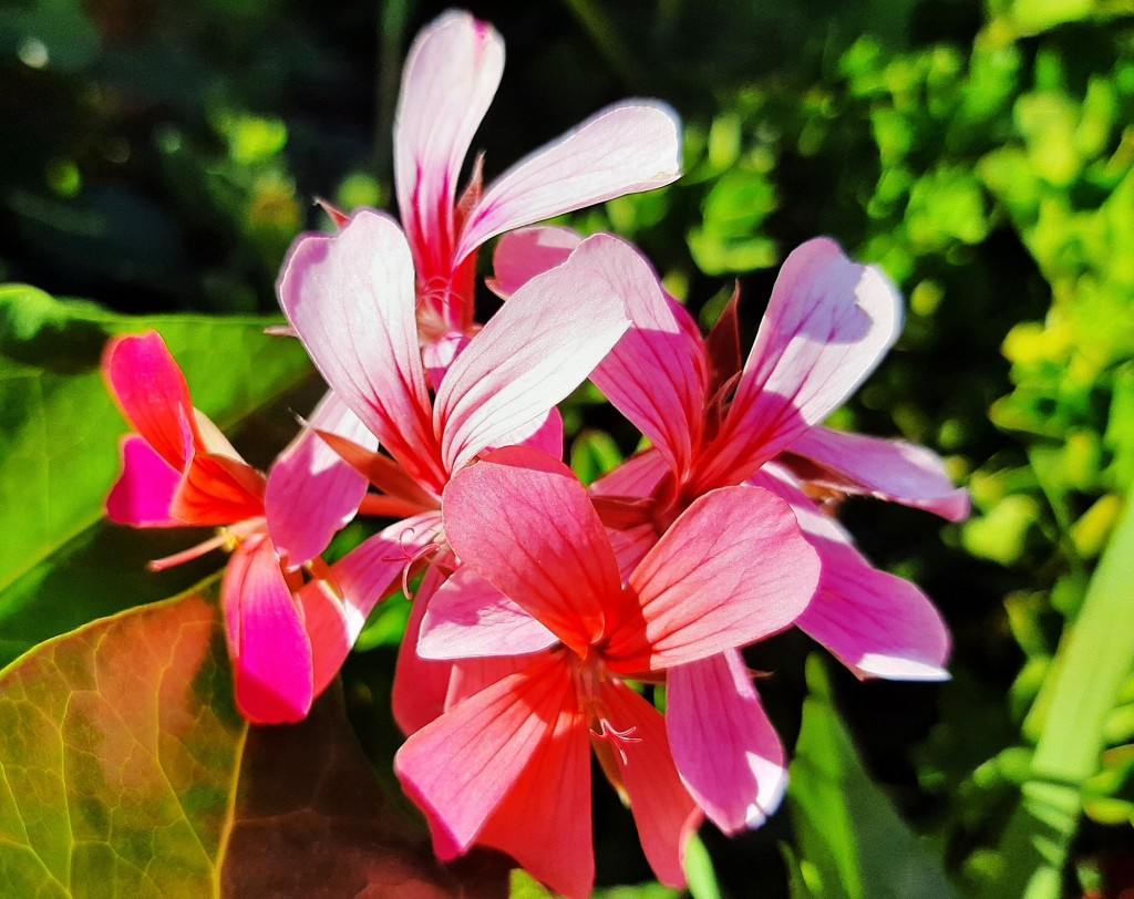
<instances>
[{"instance_id":1,"label":"large brownish-orange and green leaf with yellow veins, lower left corner","mask_svg":"<svg viewBox=\"0 0 1134 899\"><path fill-rule=\"evenodd\" d=\"M383 800L337 695L249 728L212 597L36 647L0 672L0 896L503 897Z\"/></svg>"}]
</instances>

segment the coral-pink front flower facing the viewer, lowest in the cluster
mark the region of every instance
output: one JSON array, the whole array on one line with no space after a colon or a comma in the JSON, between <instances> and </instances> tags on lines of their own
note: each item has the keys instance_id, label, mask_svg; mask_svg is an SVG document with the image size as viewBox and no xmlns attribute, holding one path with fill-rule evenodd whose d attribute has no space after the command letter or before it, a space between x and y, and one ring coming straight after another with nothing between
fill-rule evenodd
<instances>
[{"instance_id":1,"label":"coral-pink front flower facing the viewer, lowest in the cluster","mask_svg":"<svg viewBox=\"0 0 1134 899\"><path fill-rule=\"evenodd\" d=\"M570 470L510 448L452 480L445 524L463 565L434 594L418 652L473 661L458 663L448 711L395 760L439 855L492 846L553 890L590 894L590 743L629 797L658 877L684 885L685 845L701 815L663 719L624 680L658 682L790 625L819 577L790 508L760 489L713 491L624 585ZM710 686L689 689L717 718ZM734 735L717 720L714 748L726 748Z\"/></svg>"}]
</instances>

